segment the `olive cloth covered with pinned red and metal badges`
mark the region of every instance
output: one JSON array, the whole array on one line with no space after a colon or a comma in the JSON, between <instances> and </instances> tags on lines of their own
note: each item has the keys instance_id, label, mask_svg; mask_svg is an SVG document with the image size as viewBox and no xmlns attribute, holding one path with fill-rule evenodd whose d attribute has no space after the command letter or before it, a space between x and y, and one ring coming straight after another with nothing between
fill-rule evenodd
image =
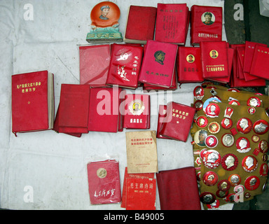
<instances>
[{"instance_id":1,"label":"olive cloth covered with pinned red and metal badges","mask_svg":"<svg viewBox=\"0 0 269 224\"><path fill-rule=\"evenodd\" d=\"M261 195L268 176L269 118L261 107L265 101L254 106L249 98L260 95L237 92L240 104L229 104L222 100L226 90L221 88L194 90L194 102L202 104L191 130L194 163L200 200L209 209Z\"/></svg>"}]
</instances>

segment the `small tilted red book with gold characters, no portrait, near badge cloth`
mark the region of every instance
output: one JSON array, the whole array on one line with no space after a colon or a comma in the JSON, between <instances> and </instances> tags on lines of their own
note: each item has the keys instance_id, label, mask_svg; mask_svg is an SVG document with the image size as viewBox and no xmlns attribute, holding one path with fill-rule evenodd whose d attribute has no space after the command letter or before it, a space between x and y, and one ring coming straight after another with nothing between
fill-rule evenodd
<instances>
[{"instance_id":1,"label":"small tilted red book with gold characters, no portrait, near badge cloth","mask_svg":"<svg viewBox=\"0 0 269 224\"><path fill-rule=\"evenodd\" d=\"M187 141L191 130L195 108L169 102L167 104L167 116L160 128L160 135L178 141Z\"/></svg>"}]
</instances>

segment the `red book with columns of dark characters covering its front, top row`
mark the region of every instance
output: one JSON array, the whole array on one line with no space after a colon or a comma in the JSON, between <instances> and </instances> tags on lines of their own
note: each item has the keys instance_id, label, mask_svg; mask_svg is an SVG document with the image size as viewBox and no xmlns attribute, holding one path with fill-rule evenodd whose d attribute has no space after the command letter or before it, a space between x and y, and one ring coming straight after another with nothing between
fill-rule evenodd
<instances>
[{"instance_id":1,"label":"red book with columns of dark characters covering its front, top row","mask_svg":"<svg viewBox=\"0 0 269 224\"><path fill-rule=\"evenodd\" d=\"M155 41L185 45L188 15L186 3L158 3Z\"/></svg>"}]
</instances>

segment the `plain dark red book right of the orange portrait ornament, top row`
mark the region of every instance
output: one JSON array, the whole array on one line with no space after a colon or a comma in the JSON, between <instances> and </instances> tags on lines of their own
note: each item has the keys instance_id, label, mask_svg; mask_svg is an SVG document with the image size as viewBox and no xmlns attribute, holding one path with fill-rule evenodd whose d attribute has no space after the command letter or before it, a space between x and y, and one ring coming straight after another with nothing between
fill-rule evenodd
<instances>
[{"instance_id":1,"label":"plain dark red book right of the orange portrait ornament, top row","mask_svg":"<svg viewBox=\"0 0 269 224\"><path fill-rule=\"evenodd\" d=\"M156 7L130 6L125 29L125 43L146 43L153 40Z\"/></svg>"}]
</instances>

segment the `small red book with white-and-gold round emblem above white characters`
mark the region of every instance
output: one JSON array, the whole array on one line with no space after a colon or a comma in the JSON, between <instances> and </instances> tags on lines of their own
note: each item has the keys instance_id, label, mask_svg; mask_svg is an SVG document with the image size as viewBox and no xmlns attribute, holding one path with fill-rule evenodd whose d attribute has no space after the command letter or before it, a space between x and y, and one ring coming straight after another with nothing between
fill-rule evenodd
<instances>
[{"instance_id":1,"label":"small red book with white-and-gold round emblem above white characters","mask_svg":"<svg viewBox=\"0 0 269 224\"><path fill-rule=\"evenodd\" d=\"M123 127L127 129L149 129L151 102L148 94L125 94Z\"/></svg>"}]
</instances>

